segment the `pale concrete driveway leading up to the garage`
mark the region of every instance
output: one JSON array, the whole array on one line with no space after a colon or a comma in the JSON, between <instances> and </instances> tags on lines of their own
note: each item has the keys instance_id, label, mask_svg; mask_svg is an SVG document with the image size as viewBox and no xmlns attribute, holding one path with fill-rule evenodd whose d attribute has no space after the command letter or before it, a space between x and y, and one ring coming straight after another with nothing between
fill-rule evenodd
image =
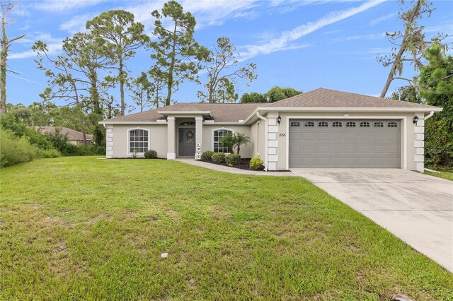
<instances>
[{"instance_id":1,"label":"pale concrete driveway leading up to the garage","mask_svg":"<svg viewBox=\"0 0 453 301\"><path fill-rule=\"evenodd\" d=\"M453 182L396 169L292 172L453 272Z\"/></svg>"}]
</instances>

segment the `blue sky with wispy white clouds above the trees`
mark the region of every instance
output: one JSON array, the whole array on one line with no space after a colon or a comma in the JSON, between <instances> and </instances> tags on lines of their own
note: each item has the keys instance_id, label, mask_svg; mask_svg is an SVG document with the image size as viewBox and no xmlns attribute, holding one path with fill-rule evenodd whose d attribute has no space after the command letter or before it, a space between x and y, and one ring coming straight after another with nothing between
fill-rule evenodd
<instances>
[{"instance_id":1,"label":"blue sky with wispy white clouds above the trees","mask_svg":"<svg viewBox=\"0 0 453 301\"><path fill-rule=\"evenodd\" d=\"M83 30L87 20L110 9L134 13L151 33L151 11L165 1L22 1L15 10L8 36L26 34L9 52L8 102L29 105L40 102L39 93L47 78L36 68L30 47L36 40L46 42L53 55L59 54L62 40ZM242 64L255 63L258 79L243 93L265 93L274 85L304 92L331 88L353 93L379 95L389 70L376 61L377 54L389 54L386 31L402 30L396 20L397 1L180 1L197 20L195 39L212 47L217 37L226 36L241 54ZM423 25L428 36L453 35L453 1L433 1L437 8ZM452 37L448 42L453 48ZM452 51L450 50L450 53ZM151 66L149 52L141 50L129 61L132 76ZM411 75L406 66L406 75ZM205 77L200 76L205 83ZM394 81L389 93L404 82ZM183 83L173 95L178 102L198 102L202 85ZM112 91L117 95L116 91ZM128 95L127 95L128 96ZM63 103L60 103L61 105Z\"/></svg>"}]
</instances>

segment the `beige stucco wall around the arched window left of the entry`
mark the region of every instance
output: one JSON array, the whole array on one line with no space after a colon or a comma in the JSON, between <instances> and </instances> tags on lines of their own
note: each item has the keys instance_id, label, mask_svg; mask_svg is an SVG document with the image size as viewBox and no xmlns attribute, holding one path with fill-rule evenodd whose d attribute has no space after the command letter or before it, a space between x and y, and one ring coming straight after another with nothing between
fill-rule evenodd
<instances>
[{"instance_id":1,"label":"beige stucco wall around the arched window left of the entry","mask_svg":"<svg viewBox=\"0 0 453 301\"><path fill-rule=\"evenodd\" d=\"M115 124L113 125L113 154L111 158L126 158L132 155L128 153L129 141L127 132L131 129L146 129L149 131L149 149L157 152L159 158L166 158L167 155L167 126L166 124ZM109 138L109 137L107 137ZM107 141L109 143L109 141ZM108 148L108 144L107 144Z\"/></svg>"}]
</instances>

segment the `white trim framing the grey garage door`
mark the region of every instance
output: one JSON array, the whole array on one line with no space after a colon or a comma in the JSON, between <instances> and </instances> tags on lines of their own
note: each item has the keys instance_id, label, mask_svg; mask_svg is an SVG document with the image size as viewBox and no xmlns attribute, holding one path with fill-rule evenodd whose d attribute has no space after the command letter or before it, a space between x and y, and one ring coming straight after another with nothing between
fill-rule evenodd
<instances>
[{"instance_id":1,"label":"white trim framing the grey garage door","mask_svg":"<svg viewBox=\"0 0 453 301\"><path fill-rule=\"evenodd\" d=\"M289 119L400 119L401 126L403 126L403 146L401 148L401 153L403 153L403 160L400 164L400 168L403 170L408 169L408 131L407 131L407 117L406 116L351 116L351 115L338 115L338 116L287 116L286 117L286 169L289 170ZM400 140L401 143L401 140Z\"/></svg>"}]
</instances>

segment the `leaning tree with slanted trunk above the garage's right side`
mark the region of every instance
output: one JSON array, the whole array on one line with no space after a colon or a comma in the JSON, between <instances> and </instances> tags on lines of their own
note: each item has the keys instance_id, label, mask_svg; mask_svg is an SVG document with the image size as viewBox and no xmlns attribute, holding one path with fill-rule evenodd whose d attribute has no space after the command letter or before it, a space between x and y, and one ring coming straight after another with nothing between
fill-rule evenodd
<instances>
[{"instance_id":1,"label":"leaning tree with slanted trunk above the garage's right side","mask_svg":"<svg viewBox=\"0 0 453 301\"><path fill-rule=\"evenodd\" d=\"M426 0L412 0L409 8L403 8L404 0L400 0L401 12L398 13L398 18L403 21L404 33L396 31L394 33L386 33L389 41L395 47L393 53L390 55L379 56L377 61L384 67L391 66L389 76L387 76L384 88L382 88L381 98L384 98L387 91L389 90L390 84L395 79L401 79L408 81L411 85L417 85L416 77L414 78L403 78L403 65L406 61L413 64L415 70L420 69L423 66L422 59L424 57L424 51L429 42L425 41L425 34L423 33L423 26L418 25L418 20L423 16L428 15L430 17L432 11L432 3ZM440 35L433 37L431 42L440 40Z\"/></svg>"}]
</instances>

